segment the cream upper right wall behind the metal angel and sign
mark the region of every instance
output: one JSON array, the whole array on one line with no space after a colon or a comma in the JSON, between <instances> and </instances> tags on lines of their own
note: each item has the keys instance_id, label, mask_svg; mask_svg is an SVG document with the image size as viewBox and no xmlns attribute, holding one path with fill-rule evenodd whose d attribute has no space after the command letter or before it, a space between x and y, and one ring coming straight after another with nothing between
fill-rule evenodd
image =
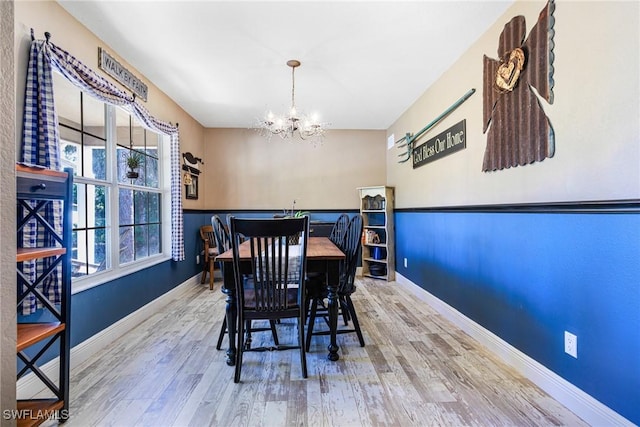
<instances>
[{"instance_id":1,"label":"cream upper right wall behind the metal angel and sign","mask_svg":"<svg viewBox=\"0 0 640 427\"><path fill-rule=\"evenodd\" d=\"M476 93L419 143L466 119L467 148L413 169L387 156L396 207L640 198L640 25L638 2L558 1L554 102L540 103L555 130L552 158L482 172L483 55L497 58L504 25L516 15L527 34L544 1L519 1L398 120L388 134L416 132L471 88Z\"/></svg>"}]
</instances>

